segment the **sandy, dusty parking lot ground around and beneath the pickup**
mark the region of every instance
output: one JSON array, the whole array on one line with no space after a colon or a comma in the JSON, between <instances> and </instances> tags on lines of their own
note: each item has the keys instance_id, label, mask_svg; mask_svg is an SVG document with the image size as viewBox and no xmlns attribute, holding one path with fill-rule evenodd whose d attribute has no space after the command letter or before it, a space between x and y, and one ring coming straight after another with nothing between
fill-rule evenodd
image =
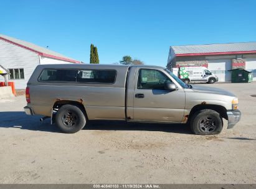
<instances>
[{"instance_id":1,"label":"sandy, dusty parking lot ground around and beneath the pickup","mask_svg":"<svg viewBox=\"0 0 256 189\"><path fill-rule=\"evenodd\" d=\"M27 116L25 96L0 99L0 183L256 183L256 82L210 86L236 94L242 112L217 136L105 121L63 134Z\"/></svg>"}]
</instances>

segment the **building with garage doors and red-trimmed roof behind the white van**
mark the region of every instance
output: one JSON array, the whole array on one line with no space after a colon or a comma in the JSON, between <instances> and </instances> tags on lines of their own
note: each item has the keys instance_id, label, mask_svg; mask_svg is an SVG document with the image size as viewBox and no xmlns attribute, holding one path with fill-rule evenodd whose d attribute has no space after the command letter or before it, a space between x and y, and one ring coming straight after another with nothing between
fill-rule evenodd
<instances>
[{"instance_id":1,"label":"building with garage doors and red-trimmed roof behind the white van","mask_svg":"<svg viewBox=\"0 0 256 189\"><path fill-rule=\"evenodd\" d=\"M230 81L228 70L244 68L256 80L256 42L181 45L169 49L167 68L203 66L216 74L219 81Z\"/></svg>"}]
</instances>

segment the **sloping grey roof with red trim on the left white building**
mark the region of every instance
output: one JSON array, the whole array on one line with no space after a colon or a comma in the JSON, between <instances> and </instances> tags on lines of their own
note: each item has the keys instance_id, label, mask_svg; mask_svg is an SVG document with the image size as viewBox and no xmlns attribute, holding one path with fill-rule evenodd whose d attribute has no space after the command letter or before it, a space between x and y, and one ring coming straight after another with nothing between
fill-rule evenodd
<instances>
[{"instance_id":1,"label":"sloping grey roof with red trim on the left white building","mask_svg":"<svg viewBox=\"0 0 256 189\"><path fill-rule=\"evenodd\" d=\"M7 35L2 35L2 34L0 34L0 39L5 40L6 42L9 42L11 44L17 45L19 47L26 48L27 50L31 50L32 52L36 52L42 57L54 58L57 60L63 60L63 61L72 62L72 63L80 63L80 61L73 60L72 58L65 57L60 53L54 52L44 47L40 47L30 42L26 42L24 40L15 39L13 37L9 37Z\"/></svg>"}]
</instances>

